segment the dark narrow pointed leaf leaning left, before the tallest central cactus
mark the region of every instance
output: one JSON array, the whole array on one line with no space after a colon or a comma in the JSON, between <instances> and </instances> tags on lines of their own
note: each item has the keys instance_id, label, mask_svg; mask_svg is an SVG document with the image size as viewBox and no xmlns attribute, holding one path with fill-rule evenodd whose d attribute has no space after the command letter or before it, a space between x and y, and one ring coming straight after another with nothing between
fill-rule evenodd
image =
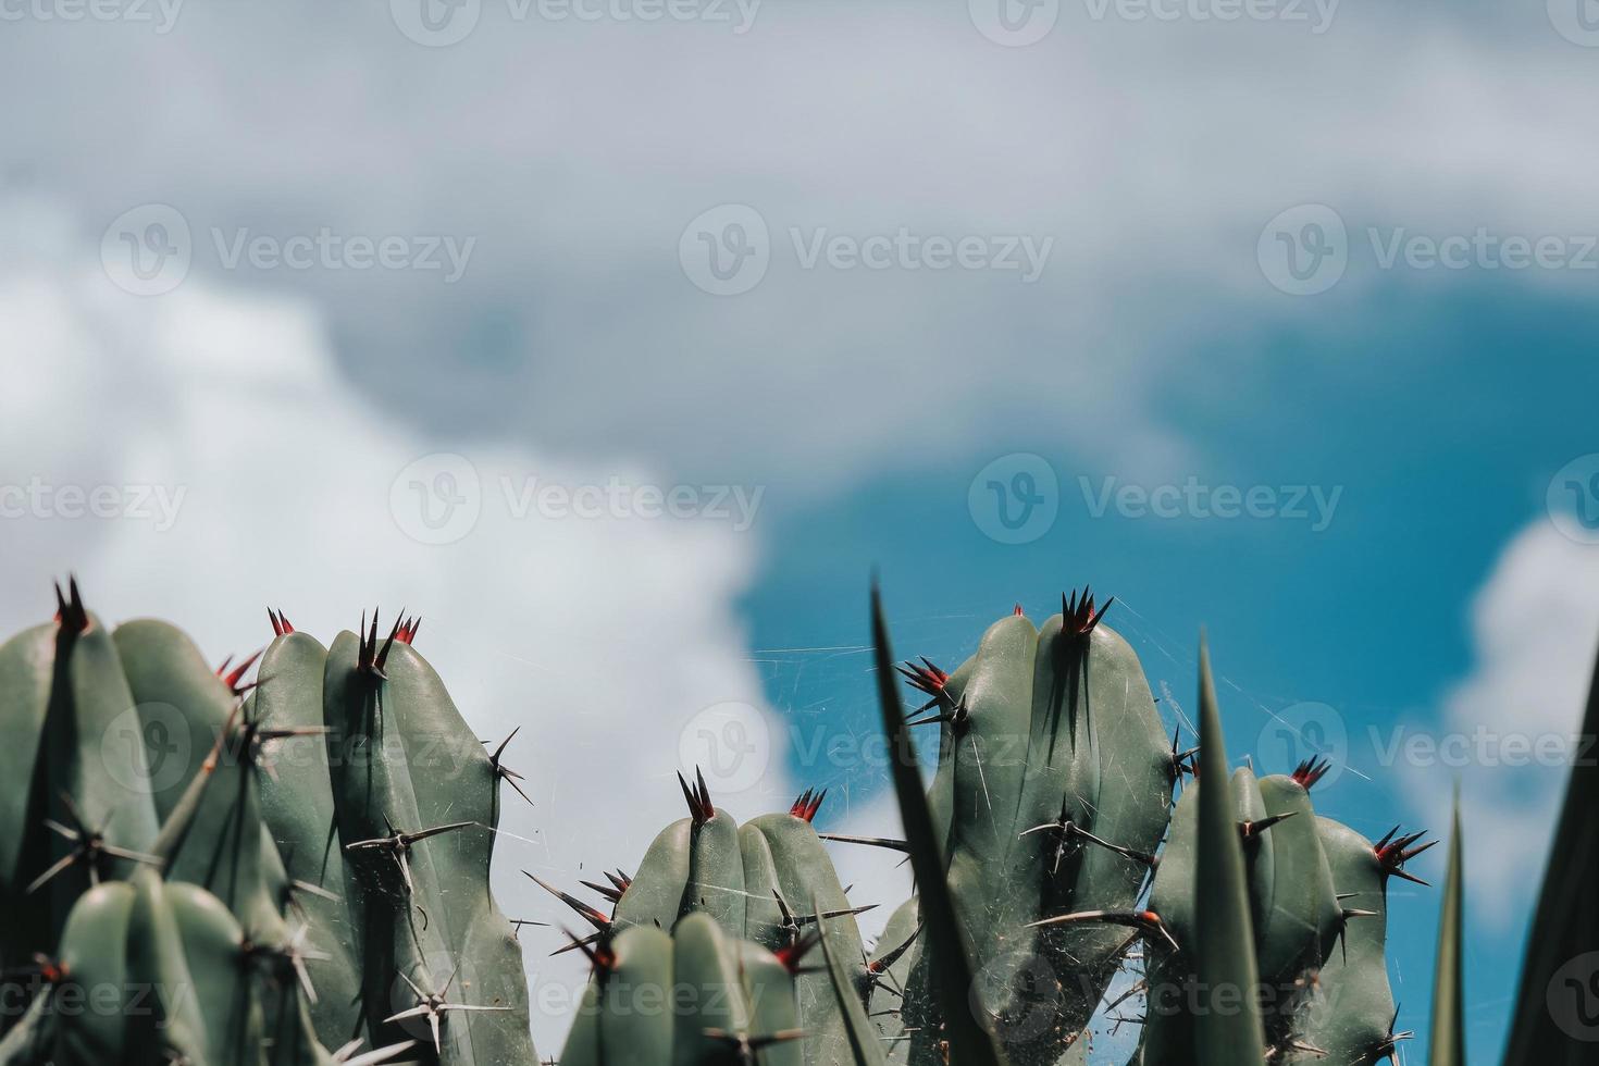
<instances>
[{"instance_id":1,"label":"dark narrow pointed leaf leaning left, before the tallest central cactus","mask_svg":"<svg viewBox=\"0 0 1599 1066\"><path fill-rule=\"evenodd\" d=\"M1004 1053L974 1010L975 973L971 964L971 941L955 908L943 849L934 829L927 798L923 794L921 764L916 761L916 743L911 740L905 710L900 705L894 679L894 649L889 644L883 596L876 585L871 588L871 644L883 732L889 742L889 772L894 796L899 799L900 820L905 825L905 841L910 845L910 863L916 874L918 898L927 930L926 961L931 970L932 999L942 1040L948 1045L951 1061L971 1063L971 1066L999 1066L1006 1061Z\"/></svg>"}]
</instances>

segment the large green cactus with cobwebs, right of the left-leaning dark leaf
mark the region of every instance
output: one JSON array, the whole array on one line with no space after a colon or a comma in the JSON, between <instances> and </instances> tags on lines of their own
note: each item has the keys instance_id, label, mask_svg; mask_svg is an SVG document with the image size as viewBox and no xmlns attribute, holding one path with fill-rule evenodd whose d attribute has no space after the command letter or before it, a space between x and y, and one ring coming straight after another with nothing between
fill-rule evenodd
<instances>
[{"instance_id":1,"label":"large green cactus with cobwebs, right of the left-leaning dark leaf","mask_svg":"<svg viewBox=\"0 0 1599 1066\"><path fill-rule=\"evenodd\" d=\"M1102 625L1110 606L1095 607L1087 590L1063 596L1062 614L1038 628L1019 609L956 671L929 660L900 668L927 697L911 726L939 724L927 799L982 1000L1015 1063L1059 1058L1129 940L1105 925L1039 922L1132 909L1185 758L1166 742L1137 655ZM916 906L891 919L879 967L915 932ZM947 1023L927 967L919 941L891 967L905 984L910 1061L939 1058Z\"/></svg>"}]
</instances>

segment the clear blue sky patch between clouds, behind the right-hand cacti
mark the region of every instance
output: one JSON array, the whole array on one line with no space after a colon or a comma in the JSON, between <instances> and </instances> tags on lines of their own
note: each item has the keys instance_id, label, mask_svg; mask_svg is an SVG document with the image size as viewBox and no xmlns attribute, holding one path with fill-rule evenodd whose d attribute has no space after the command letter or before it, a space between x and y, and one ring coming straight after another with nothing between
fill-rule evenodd
<instances>
[{"instance_id":1,"label":"clear blue sky patch between clouds, behind the right-hand cacti","mask_svg":"<svg viewBox=\"0 0 1599 1066\"><path fill-rule=\"evenodd\" d=\"M1372 727L1386 735L1404 721L1438 722L1445 690L1473 666L1473 595L1522 526L1548 521L1553 473L1593 446L1589 390L1567 387L1596 382L1585 353L1593 302L1460 289L1386 294L1319 320L1250 324L1250 337L1206 339L1204 347L1234 353L1258 345L1300 371L1252 384L1249 395L1193 419L1204 459L1191 471L1207 484L1343 486L1326 531L1290 519L1092 518L1070 471L1099 486L1115 463L1083 462L1046 427L1012 425L963 460L779 513L745 601L755 646L865 642L865 575L878 566L900 654L950 666L1012 603L1043 619L1060 609L1062 588L1092 582L1130 606L1130 617L1118 606L1108 620L1138 647L1151 684L1169 682L1190 708L1196 634L1207 626L1218 671L1241 690L1222 689L1234 756L1278 751L1257 743L1268 710L1329 705L1351 737L1351 766L1372 780L1345 775L1319 807L1372 837L1393 821L1422 828L1426 820L1396 780L1406 769L1380 766L1366 737ZM1351 313L1362 336L1335 337ZM1169 384L1178 417L1182 396L1215 390L1218 376L1196 366ZM1007 451L1049 457L1063 483L1055 526L1025 545L996 543L967 513L969 479ZM779 706L827 706L870 729L865 670L860 654L774 652L764 676ZM1573 722L1577 713L1569 708ZM1447 794L1447 769L1420 774ZM857 798L870 778L851 780ZM1545 836L1549 826L1525 831ZM1471 860L1493 863L1492 844L1473 850L1469 825L1466 834ZM1441 853L1417 869L1433 879ZM1533 885L1525 871L1506 922L1471 914L1468 1004L1481 1010L1469 1015L1469 1039L1484 1058L1503 1039ZM1394 882L1391 972L1401 1026L1420 1031L1415 1056L1425 1056L1434 905L1436 890Z\"/></svg>"}]
</instances>

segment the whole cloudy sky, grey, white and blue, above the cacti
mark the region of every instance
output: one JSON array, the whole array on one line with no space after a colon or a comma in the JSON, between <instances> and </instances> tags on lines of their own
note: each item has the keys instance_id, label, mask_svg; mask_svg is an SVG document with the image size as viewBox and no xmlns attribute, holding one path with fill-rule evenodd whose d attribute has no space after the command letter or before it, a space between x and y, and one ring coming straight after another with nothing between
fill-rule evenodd
<instances>
[{"instance_id":1,"label":"whole cloudy sky, grey, white and blue, above the cacti","mask_svg":"<svg viewBox=\"0 0 1599 1066\"><path fill-rule=\"evenodd\" d=\"M894 829L817 754L871 567L950 663L1092 582L1361 831L1466 783L1492 1055L1564 774L1503 740L1599 638L1589 8L0 2L0 622L69 569L214 658L421 611L524 726L497 884L552 917L516 871L632 866L716 745L739 813Z\"/></svg>"}]
</instances>

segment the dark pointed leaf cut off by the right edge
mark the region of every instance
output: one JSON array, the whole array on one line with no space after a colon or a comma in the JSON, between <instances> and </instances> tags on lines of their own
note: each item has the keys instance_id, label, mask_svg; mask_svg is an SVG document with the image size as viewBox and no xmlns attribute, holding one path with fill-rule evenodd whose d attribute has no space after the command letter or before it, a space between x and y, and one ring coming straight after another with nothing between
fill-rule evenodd
<instances>
[{"instance_id":1,"label":"dark pointed leaf cut off by the right edge","mask_svg":"<svg viewBox=\"0 0 1599 1066\"><path fill-rule=\"evenodd\" d=\"M1549 847L1543 892L1527 937L1521 988L1511 1018L1506 1066L1575 1066L1593 1061L1593 996L1599 973L1599 662L1578 730L1580 748ZM1559 1005L1556 1013L1553 1007Z\"/></svg>"}]
</instances>

